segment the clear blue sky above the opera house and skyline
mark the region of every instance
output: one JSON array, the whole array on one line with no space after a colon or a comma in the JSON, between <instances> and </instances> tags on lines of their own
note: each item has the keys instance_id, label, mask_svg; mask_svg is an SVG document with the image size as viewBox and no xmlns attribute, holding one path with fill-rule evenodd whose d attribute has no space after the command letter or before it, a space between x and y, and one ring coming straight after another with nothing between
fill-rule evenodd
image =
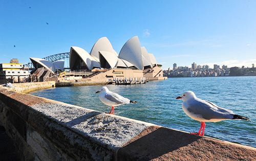
<instances>
[{"instance_id":1,"label":"clear blue sky above the opera house and skyline","mask_svg":"<svg viewBox=\"0 0 256 161\"><path fill-rule=\"evenodd\" d=\"M90 52L106 36L119 53L138 35L164 69L177 63L256 64L256 1L7 1L0 5L0 63ZM47 25L46 22L49 24ZM14 48L15 45L15 48Z\"/></svg>"}]
</instances>

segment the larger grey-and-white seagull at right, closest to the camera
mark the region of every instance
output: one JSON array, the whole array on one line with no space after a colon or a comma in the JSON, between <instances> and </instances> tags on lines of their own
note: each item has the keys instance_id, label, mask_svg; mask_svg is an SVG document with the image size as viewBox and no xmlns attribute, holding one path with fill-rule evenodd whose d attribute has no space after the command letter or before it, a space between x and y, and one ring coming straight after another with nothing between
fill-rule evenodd
<instances>
[{"instance_id":1,"label":"larger grey-and-white seagull at right, closest to the camera","mask_svg":"<svg viewBox=\"0 0 256 161\"><path fill-rule=\"evenodd\" d=\"M201 122L198 133L191 133L203 136L205 122L219 122L229 119L242 119L249 121L247 117L234 114L233 111L217 106L216 104L199 99L193 91L186 91L176 99L182 99L182 109L190 118ZM202 130L202 132L201 132Z\"/></svg>"}]
</instances>

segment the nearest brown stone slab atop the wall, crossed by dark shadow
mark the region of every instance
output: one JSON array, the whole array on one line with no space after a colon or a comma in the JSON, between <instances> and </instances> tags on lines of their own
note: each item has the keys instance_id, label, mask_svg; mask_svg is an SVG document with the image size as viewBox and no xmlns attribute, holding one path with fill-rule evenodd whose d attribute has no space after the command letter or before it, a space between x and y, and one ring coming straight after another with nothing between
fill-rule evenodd
<instances>
[{"instance_id":1,"label":"nearest brown stone slab atop the wall, crossed by dark shadow","mask_svg":"<svg viewBox=\"0 0 256 161\"><path fill-rule=\"evenodd\" d=\"M118 151L118 160L255 160L255 148L150 126Z\"/></svg>"}]
</instances>

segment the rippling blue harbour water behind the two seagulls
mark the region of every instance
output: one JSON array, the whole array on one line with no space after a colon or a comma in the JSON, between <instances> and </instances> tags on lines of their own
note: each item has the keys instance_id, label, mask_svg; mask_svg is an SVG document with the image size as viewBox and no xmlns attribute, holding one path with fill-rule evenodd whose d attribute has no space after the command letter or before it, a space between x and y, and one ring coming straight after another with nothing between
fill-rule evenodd
<instances>
[{"instance_id":1,"label":"rippling blue harbour water behind the two seagulls","mask_svg":"<svg viewBox=\"0 0 256 161\"><path fill-rule=\"evenodd\" d=\"M95 94L101 86L72 86L37 90L30 94L85 108L109 112ZM115 114L178 130L197 132L200 123L190 119L176 100L186 90L198 98L233 110L251 121L225 120L206 123L205 135L256 147L256 77L169 78L136 85L108 85L108 88L138 104L115 108Z\"/></svg>"}]
</instances>

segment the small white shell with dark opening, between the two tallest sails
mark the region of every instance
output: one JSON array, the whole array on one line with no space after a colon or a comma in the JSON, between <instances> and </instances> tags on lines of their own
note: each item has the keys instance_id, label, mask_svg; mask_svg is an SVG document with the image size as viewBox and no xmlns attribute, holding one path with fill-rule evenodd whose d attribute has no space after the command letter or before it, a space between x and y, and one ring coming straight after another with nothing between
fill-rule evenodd
<instances>
[{"instance_id":1,"label":"small white shell with dark opening, between the two tallest sails","mask_svg":"<svg viewBox=\"0 0 256 161\"><path fill-rule=\"evenodd\" d=\"M100 67L104 68L114 68L118 61L118 57L115 53L106 52L106 51L99 51L99 60L100 60Z\"/></svg>"}]
</instances>

